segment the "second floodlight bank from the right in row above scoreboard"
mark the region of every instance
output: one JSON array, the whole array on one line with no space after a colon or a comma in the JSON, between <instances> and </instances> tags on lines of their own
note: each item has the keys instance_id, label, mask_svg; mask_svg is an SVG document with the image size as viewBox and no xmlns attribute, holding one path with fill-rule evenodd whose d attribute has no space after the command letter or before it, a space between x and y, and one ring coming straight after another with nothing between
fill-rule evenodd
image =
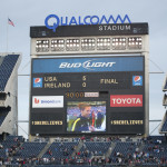
<instances>
[{"instance_id":1,"label":"second floodlight bank from the right in row above scoreboard","mask_svg":"<svg viewBox=\"0 0 167 167\"><path fill-rule=\"evenodd\" d=\"M125 50L126 49L126 38L112 38L112 49L114 50Z\"/></svg>"}]
</instances>

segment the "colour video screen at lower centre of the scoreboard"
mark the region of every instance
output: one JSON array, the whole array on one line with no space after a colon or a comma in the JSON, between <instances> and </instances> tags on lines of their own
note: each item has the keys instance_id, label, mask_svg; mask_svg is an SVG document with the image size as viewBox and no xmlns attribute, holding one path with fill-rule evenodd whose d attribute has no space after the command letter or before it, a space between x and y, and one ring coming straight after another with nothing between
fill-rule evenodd
<instances>
[{"instance_id":1,"label":"colour video screen at lower centre of the scoreboard","mask_svg":"<svg viewBox=\"0 0 167 167\"><path fill-rule=\"evenodd\" d=\"M106 131L106 101L68 101L67 131Z\"/></svg>"}]
</instances>

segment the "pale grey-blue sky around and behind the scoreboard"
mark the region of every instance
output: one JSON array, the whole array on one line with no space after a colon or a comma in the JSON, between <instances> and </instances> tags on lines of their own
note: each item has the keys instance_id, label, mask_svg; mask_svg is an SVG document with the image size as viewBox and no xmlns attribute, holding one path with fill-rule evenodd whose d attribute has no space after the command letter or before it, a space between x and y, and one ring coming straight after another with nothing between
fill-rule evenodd
<instances>
[{"instance_id":1,"label":"pale grey-blue sky around and behind the scoreboard","mask_svg":"<svg viewBox=\"0 0 167 167\"><path fill-rule=\"evenodd\" d=\"M45 26L45 19L49 14L69 18L128 14L131 22L148 22L149 71L165 72L149 76L149 119L163 119L166 111L163 107L161 87L167 71L167 0L0 0L0 52L22 53L19 75L30 73L30 27ZM13 21L14 27L8 24L8 18ZM29 77L19 76L19 120L29 118ZM158 124L150 124L150 131ZM27 134L28 124L20 122L19 135L27 137Z\"/></svg>"}]
</instances>

